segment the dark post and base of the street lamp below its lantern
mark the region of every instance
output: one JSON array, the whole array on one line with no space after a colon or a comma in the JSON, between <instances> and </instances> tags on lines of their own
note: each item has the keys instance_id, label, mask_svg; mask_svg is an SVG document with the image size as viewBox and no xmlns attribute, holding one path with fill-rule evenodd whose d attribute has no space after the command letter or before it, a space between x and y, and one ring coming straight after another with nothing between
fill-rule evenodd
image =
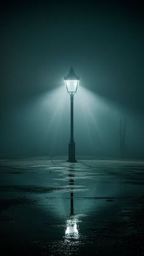
<instances>
[{"instance_id":1,"label":"dark post and base of the street lamp below its lantern","mask_svg":"<svg viewBox=\"0 0 144 256\"><path fill-rule=\"evenodd\" d=\"M75 143L74 143L74 138L73 138L73 100L74 100L73 93L70 95L70 100L71 100L71 138L70 138L70 142L68 144L68 162L76 163Z\"/></svg>"}]
</instances>

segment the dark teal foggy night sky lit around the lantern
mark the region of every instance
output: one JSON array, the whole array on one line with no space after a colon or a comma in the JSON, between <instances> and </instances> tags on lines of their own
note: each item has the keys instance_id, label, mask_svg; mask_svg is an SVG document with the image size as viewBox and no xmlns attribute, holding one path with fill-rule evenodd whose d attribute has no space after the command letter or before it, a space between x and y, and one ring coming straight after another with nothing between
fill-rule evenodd
<instances>
[{"instance_id":1,"label":"dark teal foggy night sky lit around the lantern","mask_svg":"<svg viewBox=\"0 0 144 256\"><path fill-rule=\"evenodd\" d=\"M143 158L139 1L1 2L0 153L67 155L71 65L76 154Z\"/></svg>"}]
</instances>

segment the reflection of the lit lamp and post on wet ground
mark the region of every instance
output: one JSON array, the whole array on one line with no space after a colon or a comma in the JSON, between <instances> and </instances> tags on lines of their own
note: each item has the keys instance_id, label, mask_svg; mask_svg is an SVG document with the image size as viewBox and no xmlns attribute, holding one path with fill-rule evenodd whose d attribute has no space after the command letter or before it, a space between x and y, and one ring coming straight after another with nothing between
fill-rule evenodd
<instances>
[{"instance_id":1,"label":"reflection of the lit lamp and post on wet ground","mask_svg":"<svg viewBox=\"0 0 144 256\"><path fill-rule=\"evenodd\" d=\"M70 170L71 172L71 170ZM70 177L70 186L74 185L74 174L69 174ZM70 216L67 219L67 229L65 230L66 238L78 238L79 232L77 229L77 217L74 216L74 207L73 207L73 189L71 189L71 198L70 198Z\"/></svg>"}]
</instances>

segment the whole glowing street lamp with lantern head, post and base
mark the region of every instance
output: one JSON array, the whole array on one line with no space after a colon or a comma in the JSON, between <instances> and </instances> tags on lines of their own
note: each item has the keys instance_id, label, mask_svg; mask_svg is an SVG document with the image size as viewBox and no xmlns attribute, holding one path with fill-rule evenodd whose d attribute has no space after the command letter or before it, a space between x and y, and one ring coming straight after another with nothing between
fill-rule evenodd
<instances>
[{"instance_id":1,"label":"whole glowing street lamp with lantern head, post and base","mask_svg":"<svg viewBox=\"0 0 144 256\"><path fill-rule=\"evenodd\" d=\"M68 144L68 162L76 163L75 158L75 143L73 138L73 99L74 94L77 91L77 86L79 84L79 77L74 73L73 67L71 67L70 72L64 78L65 85L67 87L67 92L70 94L71 100L71 138Z\"/></svg>"}]
</instances>

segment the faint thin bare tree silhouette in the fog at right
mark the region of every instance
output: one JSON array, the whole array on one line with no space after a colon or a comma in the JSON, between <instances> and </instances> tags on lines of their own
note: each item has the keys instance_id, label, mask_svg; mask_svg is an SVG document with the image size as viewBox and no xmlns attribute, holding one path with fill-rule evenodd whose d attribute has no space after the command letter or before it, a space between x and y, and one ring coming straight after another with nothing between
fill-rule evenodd
<instances>
[{"instance_id":1,"label":"faint thin bare tree silhouette in the fog at right","mask_svg":"<svg viewBox=\"0 0 144 256\"><path fill-rule=\"evenodd\" d=\"M120 119L120 155L124 158L127 120Z\"/></svg>"}]
</instances>

